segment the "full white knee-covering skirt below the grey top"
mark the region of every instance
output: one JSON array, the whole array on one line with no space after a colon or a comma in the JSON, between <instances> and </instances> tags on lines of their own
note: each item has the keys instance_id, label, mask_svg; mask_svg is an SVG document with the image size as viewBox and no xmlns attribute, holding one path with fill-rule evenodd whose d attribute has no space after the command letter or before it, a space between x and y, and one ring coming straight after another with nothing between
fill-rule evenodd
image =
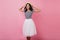
<instances>
[{"instance_id":1,"label":"full white knee-covering skirt below the grey top","mask_svg":"<svg viewBox=\"0 0 60 40\"><path fill-rule=\"evenodd\" d=\"M23 24L23 35L27 37L27 36L34 36L36 34L37 31L33 19L25 19Z\"/></svg>"}]
</instances>

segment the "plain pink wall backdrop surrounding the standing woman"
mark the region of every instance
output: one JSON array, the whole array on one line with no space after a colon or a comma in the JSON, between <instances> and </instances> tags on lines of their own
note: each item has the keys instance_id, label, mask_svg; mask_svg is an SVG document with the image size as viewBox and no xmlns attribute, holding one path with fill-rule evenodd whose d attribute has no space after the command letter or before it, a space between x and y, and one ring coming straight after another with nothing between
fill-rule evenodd
<instances>
[{"instance_id":1,"label":"plain pink wall backdrop surrounding the standing woman","mask_svg":"<svg viewBox=\"0 0 60 40\"><path fill-rule=\"evenodd\" d=\"M0 0L0 40L25 40L22 35L24 14L18 9L31 2L41 9L34 13L38 34L33 40L60 40L60 0Z\"/></svg>"}]
</instances>

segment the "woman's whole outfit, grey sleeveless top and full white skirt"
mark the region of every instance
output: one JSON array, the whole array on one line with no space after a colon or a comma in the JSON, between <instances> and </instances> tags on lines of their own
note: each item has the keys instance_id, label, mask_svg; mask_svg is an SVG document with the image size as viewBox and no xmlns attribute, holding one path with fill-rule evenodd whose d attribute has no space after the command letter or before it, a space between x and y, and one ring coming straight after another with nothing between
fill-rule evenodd
<instances>
[{"instance_id":1,"label":"woman's whole outfit, grey sleeveless top and full white skirt","mask_svg":"<svg viewBox=\"0 0 60 40\"><path fill-rule=\"evenodd\" d=\"M31 18L32 14L33 14L33 11L25 12L26 19L23 24L23 35L25 37L34 36L37 34L36 25L35 25L33 19Z\"/></svg>"}]
</instances>

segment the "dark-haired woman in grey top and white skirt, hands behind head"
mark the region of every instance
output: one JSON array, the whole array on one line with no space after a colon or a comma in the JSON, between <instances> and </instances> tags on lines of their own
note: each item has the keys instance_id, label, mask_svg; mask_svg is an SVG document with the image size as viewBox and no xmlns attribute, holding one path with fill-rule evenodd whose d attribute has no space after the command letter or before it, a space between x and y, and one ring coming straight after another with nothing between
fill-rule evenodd
<instances>
[{"instance_id":1,"label":"dark-haired woman in grey top and white skirt, hands behind head","mask_svg":"<svg viewBox=\"0 0 60 40\"><path fill-rule=\"evenodd\" d=\"M23 35L27 38L27 40L30 40L32 36L37 34L34 21L32 20L32 14L33 12L40 12L40 10L30 3L26 3L26 5L22 6L19 11L25 13L26 19L23 24Z\"/></svg>"}]
</instances>

